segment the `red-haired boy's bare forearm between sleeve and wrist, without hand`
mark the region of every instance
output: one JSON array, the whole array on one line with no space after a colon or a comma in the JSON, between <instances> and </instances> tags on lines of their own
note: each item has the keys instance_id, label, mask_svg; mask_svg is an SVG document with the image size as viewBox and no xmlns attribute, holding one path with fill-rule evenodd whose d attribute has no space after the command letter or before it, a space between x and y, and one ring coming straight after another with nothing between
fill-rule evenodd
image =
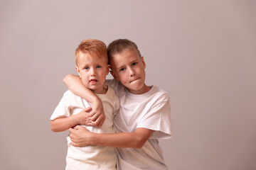
<instances>
[{"instance_id":1,"label":"red-haired boy's bare forearm between sleeve and wrist, without hand","mask_svg":"<svg viewBox=\"0 0 256 170\"><path fill-rule=\"evenodd\" d=\"M76 115L69 116L67 118L58 118L55 120L50 120L50 130L53 132L63 132L69 128L78 125Z\"/></svg>"}]
</instances>

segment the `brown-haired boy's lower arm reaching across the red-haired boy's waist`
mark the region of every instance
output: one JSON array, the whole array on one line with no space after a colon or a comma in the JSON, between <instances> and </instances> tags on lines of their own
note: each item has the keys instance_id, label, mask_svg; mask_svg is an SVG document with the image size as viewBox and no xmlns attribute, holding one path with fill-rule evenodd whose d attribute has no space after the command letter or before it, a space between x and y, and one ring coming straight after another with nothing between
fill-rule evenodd
<instances>
[{"instance_id":1,"label":"brown-haired boy's lower arm reaching across the red-haired boy's waist","mask_svg":"<svg viewBox=\"0 0 256 170\"><path fill-rule=\"evenodd\" d=\"M102 145L109 147L132 147L141 148L149 139L154 130L137 128L135 132L121 133L94 133L86 128L77 125L70 128L71 145L83 147L86 145Z\"/></svg>"}]
</instances>

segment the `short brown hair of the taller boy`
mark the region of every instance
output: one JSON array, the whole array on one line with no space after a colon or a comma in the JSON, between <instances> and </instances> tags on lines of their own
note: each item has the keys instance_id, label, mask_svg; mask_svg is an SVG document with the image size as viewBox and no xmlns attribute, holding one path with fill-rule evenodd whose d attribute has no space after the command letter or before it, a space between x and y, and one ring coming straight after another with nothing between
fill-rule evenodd
<instances>
[{"instance_id":1,"label":"short brown hair of the taller boy","mask_svg":"<svg viewBox=\"0 0 256 170\"><path fill-rule=\"evenodd\" d=\"M109 57L109 62L113 55L121 53L127 49L137 50L139 57L142 57L137 45L134 42L127 39L118 39L111 42L110 45L108 45L107 47L107 55Z\"/></svg>"}]
</instances>

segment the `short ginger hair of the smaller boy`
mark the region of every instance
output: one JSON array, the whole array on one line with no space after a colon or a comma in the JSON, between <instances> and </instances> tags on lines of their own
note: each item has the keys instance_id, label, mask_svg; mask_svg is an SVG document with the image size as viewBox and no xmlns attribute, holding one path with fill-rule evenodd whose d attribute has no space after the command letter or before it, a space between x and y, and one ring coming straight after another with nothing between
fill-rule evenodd
<instances>
[{"instance_id":1,"label":"short ginger hair of the smaller boy","mask_svg":"<svg viewBox=\"0 0 256 170\"><path fill-rule=\"evenodd\" d=\"M107 58L107 47L104 42L100 40L83 40L78 48L75 50L75 63L78 65L79 53L89 55L97 55L99 58L105 58L108 62Z\"/></svg>"}]
</instances>

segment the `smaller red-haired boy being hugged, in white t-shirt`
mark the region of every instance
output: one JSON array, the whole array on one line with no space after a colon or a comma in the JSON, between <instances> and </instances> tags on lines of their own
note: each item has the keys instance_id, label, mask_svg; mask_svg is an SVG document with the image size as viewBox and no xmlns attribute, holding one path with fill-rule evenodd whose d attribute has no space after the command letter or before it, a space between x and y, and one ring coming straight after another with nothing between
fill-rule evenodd
<instances>
[{"instance_id":1,"label":"smaller red-haired boy being hugged, in white t-shirt","mask_svg":"<svg viewBox=\"0 0 256 170\"><path fill-rule=\"evenodd\" d=\"M66 91L50 118L50 128L54 132L68 130L75 125L82 124L87 130L95 133L114 133L113 116L119 109L119 98L114 90L105 84L110 65L107 59L107 47L100 40L84 40L76 52L76 71L83 86L94 92L102 101L105 111L105 122L100 128L89 125L85 112L90 111L90 103ZM86 109L85 109L86 108ZM100 145L74 147L68 138L68 154L66 170L69 169L116 169L117 154L114 147Z\"/></svg>"}]
</instances>

